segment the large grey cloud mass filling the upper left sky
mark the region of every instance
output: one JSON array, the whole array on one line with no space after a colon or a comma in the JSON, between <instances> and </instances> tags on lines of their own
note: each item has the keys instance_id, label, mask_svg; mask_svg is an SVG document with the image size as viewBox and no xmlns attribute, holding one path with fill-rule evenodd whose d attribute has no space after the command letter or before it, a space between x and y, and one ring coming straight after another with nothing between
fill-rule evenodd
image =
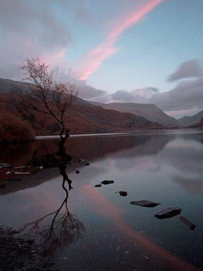
<instances>
[{"instance_id":1,"label":"large grey cloud mass filling the upper left sky","mask_svg":"<svg viewBox=\"0 0 203 271\"><path fill-rule=\"evenodd\" d=\"M25 58L38 54L51 59L71 44L55 5L53 0L0 1L0 77L19 79L18 66Z\"/></svg>"}]
</instances>

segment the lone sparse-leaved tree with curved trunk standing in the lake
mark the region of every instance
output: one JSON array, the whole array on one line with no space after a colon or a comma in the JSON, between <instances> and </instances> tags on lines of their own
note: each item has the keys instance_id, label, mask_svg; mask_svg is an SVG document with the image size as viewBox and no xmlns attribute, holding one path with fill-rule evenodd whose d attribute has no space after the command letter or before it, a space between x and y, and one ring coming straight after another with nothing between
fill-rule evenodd
<instances>
[{"instance_id":1,"label":"lone sparse-leaved tree with curved trunk standing in the lake","mask_svg":"<svg viewBox=\"0 0 203 271\"><path fill-rule=\"evenodd\" d=\"M64 117L78 96L76 85L69 82L57 83L53 77L54 72L49 70L38 56L26 59L20 69L24 71L22 80L27 83L29 90L23 91L14 86L15 92L30 109L50 115L58 121L62 127L59 152L65 153L64 144L69 137L69 129L66 127Z\"/></svg>"}]
</instances>

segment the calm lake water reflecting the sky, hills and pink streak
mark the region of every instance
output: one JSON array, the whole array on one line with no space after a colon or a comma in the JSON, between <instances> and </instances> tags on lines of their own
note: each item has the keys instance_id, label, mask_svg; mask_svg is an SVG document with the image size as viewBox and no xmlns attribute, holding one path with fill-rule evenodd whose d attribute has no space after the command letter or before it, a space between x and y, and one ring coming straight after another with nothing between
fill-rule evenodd
<instances>
[{"instance_id":1,"label":"calm lake water reflecting the sky, hills and pink streak","mask_svg":"<svg viewBox=\"0 0 203 271\"><path fill-rule=\"evenodd\" d=\"M0 147L0 162L28 164L33 155L57 150L56 138ZM51 226L44 256L57 258L60 270L195 270L203 267L203 131L168 130L71 137L68 153L76 165L67 168L72 180L67 209L29 224L62 205L66 198L59 168L29 168L29 176L0 189L0 223L30 232L39 242ZM78 158L88 160L78 163ZM78 169L80 174L75 174ZM2 181L7 169L0 170ZM103 180L114 184L95 188ZM118 191L127 191L126 197ZM154 208L129 204L148 199ZM181 215L158 220L160 210L179 206ZM69 212L69 215L67 213ZM57 214L54 222L53 218ZM66 227L64 227L66 225ZM66 228L66 229L65 229ZM32 230L31 230L32 229ZM31 230L31 231L30 231Z\"/></svg>"}]
</instances>

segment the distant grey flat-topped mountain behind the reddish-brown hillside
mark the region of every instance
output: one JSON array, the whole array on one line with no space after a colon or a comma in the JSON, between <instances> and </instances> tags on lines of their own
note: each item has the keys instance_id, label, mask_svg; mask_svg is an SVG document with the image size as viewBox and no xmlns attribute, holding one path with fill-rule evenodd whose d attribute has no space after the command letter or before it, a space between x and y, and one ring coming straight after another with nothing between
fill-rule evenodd
<instances>
[{"instance_id":1,"label":"distant grey flat-topped mountain behind the reddish-brown hillside","mask_svg":"<svg viewBox=\"0 0 203 271\"><path fill-rule=\"evenodd\" d=\"M180 126L177 119L168 116L163 110L153 104L135 104L135 103L110 103L102 104L90 102L93 105L102 106L105 109L113 109L120 112L128 112L137 116L143 116L151 121L156 121L167 127Z\"/></svg>"}]
</instances>

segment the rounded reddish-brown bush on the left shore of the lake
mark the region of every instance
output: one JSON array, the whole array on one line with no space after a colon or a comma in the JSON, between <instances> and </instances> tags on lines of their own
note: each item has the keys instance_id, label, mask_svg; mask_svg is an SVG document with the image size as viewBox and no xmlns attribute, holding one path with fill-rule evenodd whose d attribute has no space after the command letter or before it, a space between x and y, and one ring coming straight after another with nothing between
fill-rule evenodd
<instances>
[{"instance_id":1,"label":"rounded reddish-brown bush on the left shore of the lake","mask_svg":"<svg viewBox=\"0 0 203 271\"><path fill-rule=\"evenodd\" d=\"M35 131L27 120L19 116L0 113L0 142L33 140Z\"/></svg>"}]
</instances>

